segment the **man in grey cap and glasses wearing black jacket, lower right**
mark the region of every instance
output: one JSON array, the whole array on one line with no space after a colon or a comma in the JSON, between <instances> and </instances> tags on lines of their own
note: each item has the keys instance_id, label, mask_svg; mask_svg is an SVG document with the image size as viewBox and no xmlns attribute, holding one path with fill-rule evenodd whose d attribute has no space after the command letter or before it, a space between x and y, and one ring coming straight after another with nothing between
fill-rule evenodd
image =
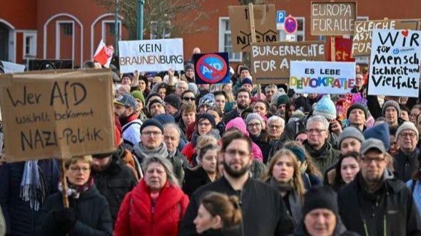
<instances>
[{"instance_id":1,"label":"man in grey cap and glasses wearing black jacket, lower right","mask_svg":"<svg viewBox=\"0 0 421 236\"><path fill-rule=\"evenodd\" d=\"M420 235L420 213L410 189L387 169L392 160L382 141L365 139L360 155L360 172L338 193L345 227L360 235Z\"/></svg>"}]
</instances>

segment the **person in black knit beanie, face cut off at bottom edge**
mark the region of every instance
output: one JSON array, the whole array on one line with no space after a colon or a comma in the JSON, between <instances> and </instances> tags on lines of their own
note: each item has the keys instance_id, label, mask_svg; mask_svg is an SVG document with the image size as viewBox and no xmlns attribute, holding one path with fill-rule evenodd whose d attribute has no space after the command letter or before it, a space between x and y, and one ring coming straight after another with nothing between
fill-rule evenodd
<instances>
[{"instance_id":1,"label":"person in black knit beanie, face cut off at bottom edge","mask_svg":"<svg viewBox=\"0 0 421 236\"><path fill-rule=\"evenodd\" d=\"M303 221L294 235L355 235L348 232L339 216L336 193L329 186L311 188L304 195Z\"/></svg>"}]
</instances>

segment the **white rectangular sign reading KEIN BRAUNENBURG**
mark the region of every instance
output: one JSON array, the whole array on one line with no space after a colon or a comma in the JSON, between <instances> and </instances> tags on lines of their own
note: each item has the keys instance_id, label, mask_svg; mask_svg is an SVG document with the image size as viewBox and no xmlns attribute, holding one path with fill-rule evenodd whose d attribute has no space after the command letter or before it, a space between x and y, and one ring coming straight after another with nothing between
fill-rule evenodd
<instances>
[{"instance_id":1,"label":"white rectangular sign reading KEIN BRAUNENBURG","mask_svg":"<svg viewBox=\"0 0 421 236\"><path fill-rule=\"evenodd\" d=\"M183 70L183 38L118 41L121 73Z\"/></svg>"}]
</instances>

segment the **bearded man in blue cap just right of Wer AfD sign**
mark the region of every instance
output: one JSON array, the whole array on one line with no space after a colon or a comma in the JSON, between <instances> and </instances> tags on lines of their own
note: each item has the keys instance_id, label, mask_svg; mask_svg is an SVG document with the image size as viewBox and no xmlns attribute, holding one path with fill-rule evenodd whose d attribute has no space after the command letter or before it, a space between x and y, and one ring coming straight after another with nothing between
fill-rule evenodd
<instances>
[{"instance_id":1,"label":"bearded man in blue cap just right of Wer AfD sign","mask_svg":"<svg viewBox=\"0 0 421 236\"><path fill-rule=\"evenodd\" d=\"M118 116L121 127L121 136L124 143L133 146L141 141L141 125L142 122L138 119L136 108L138 104L134 97L130 94L119 95L114 101L114 112Z\"/></svg>"}]
</instances>

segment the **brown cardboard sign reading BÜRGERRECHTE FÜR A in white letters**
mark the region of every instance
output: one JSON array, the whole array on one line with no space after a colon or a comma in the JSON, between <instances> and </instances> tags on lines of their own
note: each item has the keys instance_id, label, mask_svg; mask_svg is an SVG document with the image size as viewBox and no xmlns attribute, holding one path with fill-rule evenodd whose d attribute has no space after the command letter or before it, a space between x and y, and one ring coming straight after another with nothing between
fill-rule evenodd
<instances>
[{"instance_id":1,"label":"brown cardboard sign reading B\u00dcRGERRECHTE F\u00dcR A in white letters","mask_svg":"<svg viewBox=\"0 0 421 236\"><path fill-rule=\"evenodd\" d=\"M325 60L323 41L256 43L251 50L256 83L288 82L291 60Z\"/></svg>"}]
</instances>

